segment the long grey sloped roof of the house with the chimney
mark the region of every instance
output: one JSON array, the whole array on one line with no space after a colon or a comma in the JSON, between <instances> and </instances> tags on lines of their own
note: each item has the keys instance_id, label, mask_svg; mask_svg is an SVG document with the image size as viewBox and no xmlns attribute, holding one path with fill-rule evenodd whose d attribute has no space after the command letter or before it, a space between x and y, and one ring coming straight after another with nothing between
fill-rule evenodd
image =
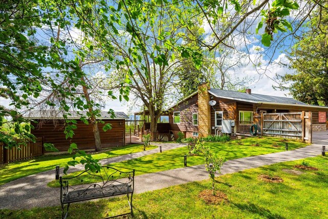
<instances>
[{"instance_id":1,"label":"long grey sloped roof of the house with the chimney","mask_svg":"<svg viewBox=\"0 0 328 219\"><path fill-rule=\"evenodd\" d=\"M249 103L267 103L267 104L293 104L293 105L304 105L309 106L300 101L296 101L296 99L289 97L280 97L280 96L270 96L263 94L248 94L237 91L230 90L220 90L220 89L211 89L209 93L213 94L216 97L227 98L227 99L235 99L236 101L244 101Z\"/></svg>"}]
</instances>

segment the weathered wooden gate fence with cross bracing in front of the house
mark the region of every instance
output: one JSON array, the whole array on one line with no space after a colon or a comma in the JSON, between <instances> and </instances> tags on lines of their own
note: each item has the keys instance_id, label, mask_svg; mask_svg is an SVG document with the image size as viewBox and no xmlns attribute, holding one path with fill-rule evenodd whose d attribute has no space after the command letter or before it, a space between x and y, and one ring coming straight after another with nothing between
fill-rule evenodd
<instances>
[{"instance_id":1,"label":"weathered wooden gate fence with cross bracing in front of the house","mask_svg":"<svg viewBox=\"0 0 328 219\"><path fill-rule=\"evenodd\" d=\"M254 114L258 133L312 143L312 112Z\"/></svg>"}]
</instances>

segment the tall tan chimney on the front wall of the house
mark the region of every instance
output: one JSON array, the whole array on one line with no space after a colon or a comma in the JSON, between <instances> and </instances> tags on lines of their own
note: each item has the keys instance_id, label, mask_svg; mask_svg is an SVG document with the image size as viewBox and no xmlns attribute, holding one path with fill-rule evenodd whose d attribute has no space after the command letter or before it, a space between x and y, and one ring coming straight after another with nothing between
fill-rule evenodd
<instances>
[{"instance_id":1,"label":"tall tan chimney on the front wall of the house","mask_svg":"<svg viewBox=\"0 0 328 219\"><path fill-rule=\"evenodd\" d=\"M211 134L210 83L198 85L198 136Z\"/></svg>"}]
</instances>

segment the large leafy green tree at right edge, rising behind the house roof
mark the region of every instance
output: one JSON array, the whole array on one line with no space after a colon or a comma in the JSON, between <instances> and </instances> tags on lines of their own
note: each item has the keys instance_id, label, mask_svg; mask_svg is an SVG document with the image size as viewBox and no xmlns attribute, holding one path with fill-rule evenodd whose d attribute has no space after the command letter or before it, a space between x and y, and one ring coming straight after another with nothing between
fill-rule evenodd
<instances>
[{"instance_id":1,"label":"large leafy green tree at right edge, rising behind the house roof","mask_svg":"<svg viewBox=\"0 0 328 219\"><path fill-rule=\"evenodd\" d=\"M328 12L319 9L312 17L306 25L308 31L289 53L295 73L282 77L281 88L304 103L328 106Z\"/></svg>"}]
</instances>

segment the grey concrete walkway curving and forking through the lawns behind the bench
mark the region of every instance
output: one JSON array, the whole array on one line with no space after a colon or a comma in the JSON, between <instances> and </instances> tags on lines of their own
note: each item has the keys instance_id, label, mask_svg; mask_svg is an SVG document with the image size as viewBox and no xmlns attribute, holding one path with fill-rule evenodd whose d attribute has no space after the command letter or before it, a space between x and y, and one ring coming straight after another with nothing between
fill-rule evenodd
<instances>
[{"instance_id":1,"label":"grey concrete walkway curving and forking through the lawns behind the bench","mask_svg":"<svg viewBox=\"0 0 328 219\"><path fill-rule=\"evenodd\" d=\"M162 150L185 146L182 144L161 145ZM106 161L101 161L101 164L109 164L112 162L133 159L151 154L153 151L158 152L159 149L109 158ZM221 168L221 174L238 172L245 169L256 168L263 165L270 165L284 161L294 161L305 157L316 156L320 153L321 142L320 145L314 144L292 151L239 158L224 163ZM70 171L76 171L80 168L81 167L70 168ZM0 186L0 209L29 209L33 207L60 205L59 188L47 187L48 182L54 180L54 176L55 171L51 170L20 178ZM205 170L204 165L144 174L135 177L135 192L142 193L206 179L208 179L208 173Z\"/></svg>"}]
</instances>

